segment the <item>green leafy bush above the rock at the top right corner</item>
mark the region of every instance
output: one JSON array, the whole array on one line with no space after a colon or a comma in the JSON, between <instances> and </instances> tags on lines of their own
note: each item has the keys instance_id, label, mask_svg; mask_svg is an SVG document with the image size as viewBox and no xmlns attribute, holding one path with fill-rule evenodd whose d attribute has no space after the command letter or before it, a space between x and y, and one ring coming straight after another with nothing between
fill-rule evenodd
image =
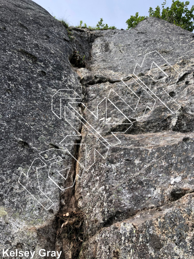
<instances>
[{"instance_id":1,"label":"green leafy bush above the rock at the top right corner","mask_svg":"<svg viewBox=\"0 0 194 259\"><path fill-rule=\"evenodd\" d=\"M181 28L193 32L194 30L194 5L189 10L189 1L181 2L179 0L172 0L171 7L165 7L166 0L162 3L162 8L157 6L155 10L149 8L149 17L157 17L166 20L170 23L180 26ZM126 21L128 29L135 27L140 21L146 19L145 16L130 16Z\"/></svg>"}]
</instances>

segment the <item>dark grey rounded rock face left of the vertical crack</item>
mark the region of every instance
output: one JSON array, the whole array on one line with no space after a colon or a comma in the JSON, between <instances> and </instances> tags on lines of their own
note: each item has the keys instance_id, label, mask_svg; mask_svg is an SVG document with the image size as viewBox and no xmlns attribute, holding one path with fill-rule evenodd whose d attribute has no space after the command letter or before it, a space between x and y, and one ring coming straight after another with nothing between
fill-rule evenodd
<instances>
[{"instance_id":1,"label":"dark grey rounded rock face left of the vertical crack","mask_svg":"<svg viewBox=\"0 0 194 259\"><path fill-rule=\"evenodd\" d=\"M69 41L65 27L38 4L0 1L0 247L35 250L36 258L39 248L54 249L61 191L39 175L54 202L46 211L18 179L39 152L58 147L70 132L51 111L51 96L60 88L81 94Z\"/></svg>"}]
</instances>

